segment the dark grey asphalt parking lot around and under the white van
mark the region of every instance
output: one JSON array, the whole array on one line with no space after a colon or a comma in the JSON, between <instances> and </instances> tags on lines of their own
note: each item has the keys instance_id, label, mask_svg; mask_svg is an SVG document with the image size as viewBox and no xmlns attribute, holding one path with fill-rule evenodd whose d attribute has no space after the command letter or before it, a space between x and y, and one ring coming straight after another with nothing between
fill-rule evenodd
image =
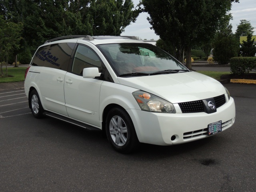
<instances>
[{"instance_id":1,"label":"dark grey asphalt parking lot around and under the white van","mask_svg":"<svg viewBox=\"0 0 256 192\"><path fill-rule=\"evenodd\" d=\"M1 84L0 84L1 86ZM35 119L24 88L0 90L0 191L256 191L256 85L225 84L232 128L174 146L114 151L100 132Z\"/></svg>"}]
</instances>

